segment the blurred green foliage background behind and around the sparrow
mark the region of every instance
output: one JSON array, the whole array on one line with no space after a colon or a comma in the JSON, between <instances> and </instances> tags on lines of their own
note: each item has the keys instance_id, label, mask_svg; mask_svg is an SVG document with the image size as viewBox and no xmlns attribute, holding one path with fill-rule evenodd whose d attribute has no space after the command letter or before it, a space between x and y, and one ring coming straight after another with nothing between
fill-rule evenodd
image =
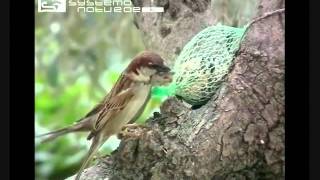
<instances>
[{"instance_id":1,"label":"blurred green foliage background behind and around the sparrow","mask_svg":"<svg viewBox=\"0 0 320 180\"><path fill-rule=\"evenodd\" d=\"M72 124L112 88L131 58L144 49L132 14L35 13L35 133ZM154 96L138 122L158 111ZM77 172L90 142L87 133L68 134L46 144L36 139L36 179L64 179ZM110 138L100 149L119 144Z\"/></svg>"}]
</instances>

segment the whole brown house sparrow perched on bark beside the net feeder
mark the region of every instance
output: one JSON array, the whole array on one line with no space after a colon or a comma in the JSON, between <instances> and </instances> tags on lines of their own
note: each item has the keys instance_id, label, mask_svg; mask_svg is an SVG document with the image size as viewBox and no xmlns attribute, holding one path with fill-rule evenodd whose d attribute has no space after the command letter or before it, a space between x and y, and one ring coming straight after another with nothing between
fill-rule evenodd
<instances>
[{"instance_id":1,"label":"whole brown house sparrow perched on bark beside the net feeder","mask_svg":"<svg viewBox=\"0 0 320 180\"><path fill-rule=\"evenodd\" d=\"M156 53L142 52L120 75L108 95L86 116L70 127L40 136L47 136L45 141L48 141L70 132L90 131L87 139L92 139L92 144L75 178L78 180L100 146L141 115L150 99L151 87L167 85L171 81L172 72L163 59Z\"/></svg>"}]
</instances>

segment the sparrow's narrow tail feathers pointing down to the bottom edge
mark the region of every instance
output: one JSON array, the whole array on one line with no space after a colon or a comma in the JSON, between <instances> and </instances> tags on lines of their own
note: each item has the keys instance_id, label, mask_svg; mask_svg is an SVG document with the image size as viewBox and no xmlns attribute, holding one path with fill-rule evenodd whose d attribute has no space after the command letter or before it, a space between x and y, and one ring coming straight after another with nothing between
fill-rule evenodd
<instances>
[{"instance_id":1,"label":"sparrow's narrow tail feathers pointing down to the bottom edge","mask_svg":"<svg viewBox=\"0 0 320 180\"><path fill-rule=\"evenodd\" d=\"M104 142L103 139L106 140L107 138L102 137L101 134L97 134L97 136L95 136L93 138L90 150L89 150L89 152L87 154L87 157L86 157L85 161L82 163L81 168L78 171L78 174L77 174L75 180L79 180L80 179L82 171L85 168L87 168L87 166L91 162L92 158L94 157L94 155L96 154L96 152L98 151L100 146L103 144L103 142Z\"/></svg>"}]
</instances>

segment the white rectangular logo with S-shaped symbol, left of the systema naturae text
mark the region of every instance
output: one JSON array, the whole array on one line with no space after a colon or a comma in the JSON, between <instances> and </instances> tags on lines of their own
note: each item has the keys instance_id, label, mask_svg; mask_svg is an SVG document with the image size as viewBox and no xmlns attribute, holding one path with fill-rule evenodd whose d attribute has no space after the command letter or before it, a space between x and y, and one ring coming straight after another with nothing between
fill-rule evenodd
<instances>
[{"instance_id":1,"label":"white rectangular logo with S-shaped symbol, left of the systema naturae text","mask_svg":"<svg viewBox=\"0 0 320 180\"><path fill-rule=\"evenodd\" d=\"M38 12L66 12L66 0L38 0Z\"/></svg>"}]
</instances>

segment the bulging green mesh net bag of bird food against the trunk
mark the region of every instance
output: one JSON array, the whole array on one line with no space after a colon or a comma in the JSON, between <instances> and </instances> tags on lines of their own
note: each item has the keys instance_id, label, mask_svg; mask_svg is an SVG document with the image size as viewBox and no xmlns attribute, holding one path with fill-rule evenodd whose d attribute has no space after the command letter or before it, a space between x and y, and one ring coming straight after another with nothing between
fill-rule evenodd
<instances>
[{"instance_id":1,"label":"bulging green mesh net bag of bird food against the trunk","mask_svg":"<svg viewBox=\"0 0 320 180\"><path fill-rule=\"evenodd\" d=\"M228 74L245 31L246 27L215 25L196 34L175 61L167 93L191 105L207 102ZM159 89L156 92L161 94Z\"/></svg>"}]
</instances>

